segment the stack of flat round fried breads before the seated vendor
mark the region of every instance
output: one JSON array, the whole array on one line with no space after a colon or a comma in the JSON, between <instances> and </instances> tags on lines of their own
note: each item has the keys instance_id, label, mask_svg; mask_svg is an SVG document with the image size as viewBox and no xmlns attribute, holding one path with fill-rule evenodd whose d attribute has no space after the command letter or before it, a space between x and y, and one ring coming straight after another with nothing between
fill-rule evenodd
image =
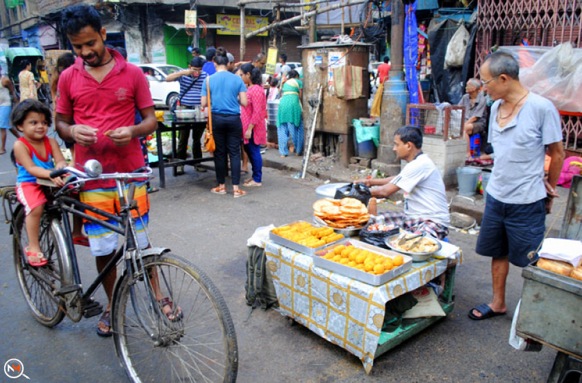
<instances>
[{"instance_id":1,"label":"stack of flat round fried breads before the seated vendor","mask_svg":"<svg viewBox=\"0 0 582 383\"><path fill-rule=\"evenodd\" d=\"M333 228L359 226L370 219L366 205L355 198L323 198L313 204L313 211L316 217Z\"/></svg>"}]
</instances>

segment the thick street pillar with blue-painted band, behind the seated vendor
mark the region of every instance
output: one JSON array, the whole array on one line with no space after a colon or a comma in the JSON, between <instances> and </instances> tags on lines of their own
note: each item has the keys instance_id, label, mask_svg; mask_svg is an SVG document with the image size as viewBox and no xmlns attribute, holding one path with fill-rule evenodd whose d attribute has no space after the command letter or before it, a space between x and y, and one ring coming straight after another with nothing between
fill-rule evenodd
<instances>
[{"instance_id":1,"label":"thick street pillar with blue-painted band, behind the seated vendor","mask_svg":"<svg viewBox=\"0 0 582 383\"><path fill-rule=\"evenodd\" d=\"M394 132L405 122L408 90L403 72L404 14L402 0L392 1L392 35L390 37L390 79L384 83L380 115L380 145L377 162L395 163Z\"/></svg>"}]
</instances>

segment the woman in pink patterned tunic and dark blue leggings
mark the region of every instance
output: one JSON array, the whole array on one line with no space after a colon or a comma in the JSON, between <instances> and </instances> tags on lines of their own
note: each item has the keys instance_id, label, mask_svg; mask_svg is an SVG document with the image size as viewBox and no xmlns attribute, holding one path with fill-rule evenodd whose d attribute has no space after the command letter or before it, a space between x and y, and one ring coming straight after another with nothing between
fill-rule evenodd
<instances>
[{"instance_id":1,"label":"woman in pink patterned tunic and dark blue leggings","mask_svg":"<svg viewBox=\"0 0 582 383\"><path fill-rule=\"evenodd\" d=\"M244 151L249 156L249 161L253 167L253 176L244 181L242 186L260 187L262 186L263 158L261 157L260 145L267 143L267 131L265 125L267 100L262 87L262 75L259 68L253 64L244 64L240 67L239 75L246 90L248 103L246 107L241 107L240 118L242 120L242 135L244 141Z\"/></svg>"}]
</instances>

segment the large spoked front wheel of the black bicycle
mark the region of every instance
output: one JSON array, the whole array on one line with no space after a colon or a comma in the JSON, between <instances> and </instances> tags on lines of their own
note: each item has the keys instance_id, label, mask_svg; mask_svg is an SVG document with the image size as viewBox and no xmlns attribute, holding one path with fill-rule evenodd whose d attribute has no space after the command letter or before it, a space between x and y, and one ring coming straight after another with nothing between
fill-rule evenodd
<instances>
[{"instance_id":1,"label":"large spoked front wheel of the black bicycle","mask_svg":"<svg viewBox=\"0 0 582 383\"><path fill-rule=\"evenodd\" d=\"M173 254L143 263L147 275L128 272L112 310L116 351L131 382L235 382L236 334L212 280ZM173 313L164 313L162 298L173 301Z\"/></svg>"}]
</instances>

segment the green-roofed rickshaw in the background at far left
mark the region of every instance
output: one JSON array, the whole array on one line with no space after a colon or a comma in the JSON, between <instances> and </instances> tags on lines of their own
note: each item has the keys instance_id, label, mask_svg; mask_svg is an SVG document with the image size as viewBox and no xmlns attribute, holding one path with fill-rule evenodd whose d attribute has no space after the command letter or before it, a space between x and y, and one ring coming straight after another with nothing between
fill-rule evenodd
<instances>
[{"instance_id":1,"label":"green-roofed rickshaw in the background at far left","mask_svg":"<svg viewBox=\"0 0 582 383\"><path fill-rule=\"evenodd\" d=\"M42 84L42 78L38 72L38 61L42 60L42 53L33 47L14 47L8 48L5 52L6 64L8 65L8 78L14 85L16 96L20 98L20 87L18 86L18 73L22 70L22 63L28 60L32 64L31 72L36 81ZM50 105L51 95L47 92L47 86L41 86L37 90L38 101Z\"/></svg>"}]
</instances>

